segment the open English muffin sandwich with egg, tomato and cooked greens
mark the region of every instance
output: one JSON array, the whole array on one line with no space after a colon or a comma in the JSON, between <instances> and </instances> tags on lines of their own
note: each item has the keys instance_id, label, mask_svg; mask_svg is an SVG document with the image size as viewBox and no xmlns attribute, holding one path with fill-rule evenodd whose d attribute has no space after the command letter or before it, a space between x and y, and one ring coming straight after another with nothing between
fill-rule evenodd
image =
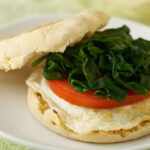
<instances>
[{"instance_id":1,"label":"open English muffin sandwich with egg, tomato and cooked greens","mask_svg":"<svg viewBox=\"0 0 150 150\"><path fill-rule=\"evenodd\" d=\"M101 30L109 16L87 10L0 41L0 69L32 61L32 114L79 141L113 143L150 133L150 41L130 29Z\"/></svg>"}]
</instances>

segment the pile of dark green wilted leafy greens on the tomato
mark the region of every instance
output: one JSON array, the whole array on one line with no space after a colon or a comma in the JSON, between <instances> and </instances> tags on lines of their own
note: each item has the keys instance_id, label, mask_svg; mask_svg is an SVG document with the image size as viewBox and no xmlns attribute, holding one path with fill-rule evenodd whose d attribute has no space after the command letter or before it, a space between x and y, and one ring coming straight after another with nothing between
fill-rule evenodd
<instances>
[{"instance_id":1,"label":"pile of dark green wilted leafy greens on the tomato","mask_svg":"<svg viewBox=\"0 0 150 150\"><path fill-rule=\"evenodd\" d=\"M80 93L95 91L96 97L113 98L118 103L127 90L146 95L150 89L150 41L134 40L127 26L96 32L64 53L49 53L43 60L43 76L64 80L62 74Z\"/></svg>"}]
</instances>

